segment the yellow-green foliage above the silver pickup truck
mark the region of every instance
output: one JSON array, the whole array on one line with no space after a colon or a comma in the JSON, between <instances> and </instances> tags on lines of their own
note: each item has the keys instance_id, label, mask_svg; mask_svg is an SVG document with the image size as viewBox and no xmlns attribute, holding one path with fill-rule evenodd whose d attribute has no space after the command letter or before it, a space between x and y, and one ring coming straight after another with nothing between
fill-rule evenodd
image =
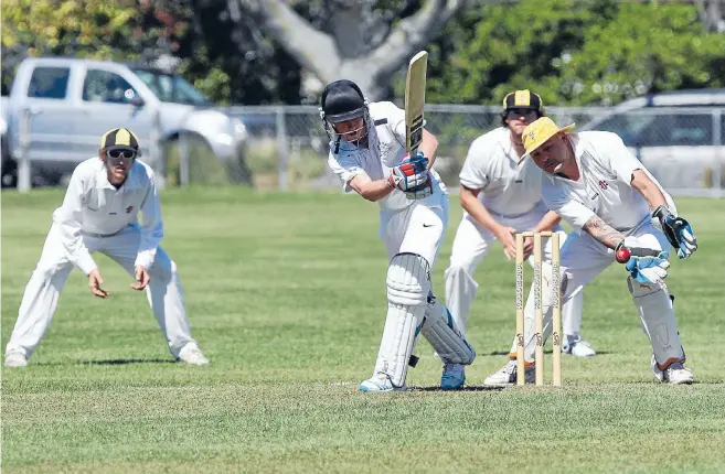
<instances>
[{"instance_id":1,"label":"yellow-green foliage above the silver pickup truck","mask_svg":"<svg viewBox=\"0 0 725 474\"><path fill-rule=\"evenodd\" d=\"M26 56L151 61L174 54L186 35L191 10L150 0L4 0L2 84Z\"/></svg>"}]
</instances>

